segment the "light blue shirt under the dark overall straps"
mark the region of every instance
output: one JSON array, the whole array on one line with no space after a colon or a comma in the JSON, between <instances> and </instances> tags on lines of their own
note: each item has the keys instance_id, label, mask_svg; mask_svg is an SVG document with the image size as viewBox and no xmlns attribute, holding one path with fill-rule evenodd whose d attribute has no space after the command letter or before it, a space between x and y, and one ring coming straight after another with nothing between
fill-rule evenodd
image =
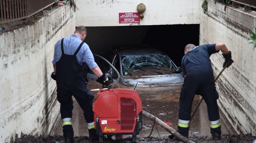
<instances>
[{"instance_id":1,"label":"light blue shirt under the dark overall straps","mask_svg":"<svg viewBox=\"0 0 256 143\"><path fill-rule=\"evenodd\" d=\"M81 42L81 38L77 35L73 34L69 37L66 37L63 41L64 53L67 55L74 55L75 51L77 50ZM56 62L59 61L61 56L62 51L60 39L54 46L54 56L52 63L56 64ZM90 69L93 69L98 66L94 60L94 56L92 55L89 46L86 43L82 45L79 52L76 54L76 59L78 60L78 63L81 65L85 62Z\"/></svg>"}]
</instances>

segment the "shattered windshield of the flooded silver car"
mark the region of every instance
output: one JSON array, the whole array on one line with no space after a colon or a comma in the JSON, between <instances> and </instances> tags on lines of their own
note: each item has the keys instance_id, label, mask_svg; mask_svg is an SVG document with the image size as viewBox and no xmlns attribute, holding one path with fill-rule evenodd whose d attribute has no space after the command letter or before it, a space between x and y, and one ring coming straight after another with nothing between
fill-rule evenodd
<instances>
[{"instance_id":1,"label":"shattered windshield of the flooded silver car","mask_svg":"<svg viewBox=\"0 0 256 143\"><path fill-rule=\"evenodd\" d=\"M164 54L123 56L123 75L147 76L173 74L176 67Z\"/></svg>"}]
</instances>

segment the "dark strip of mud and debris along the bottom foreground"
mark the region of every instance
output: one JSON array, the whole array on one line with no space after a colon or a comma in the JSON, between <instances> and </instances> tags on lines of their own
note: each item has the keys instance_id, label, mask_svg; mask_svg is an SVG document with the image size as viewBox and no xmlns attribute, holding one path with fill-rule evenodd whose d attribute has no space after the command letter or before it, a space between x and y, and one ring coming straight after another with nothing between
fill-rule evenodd
<instances>
[{"instance_id":1,"label":"dark strip of mud and debris along the bottom foreground","mask_svg":"<svg viewBox=\"0 0 256 143\"><path fill-rule=\"evenodd\" d=\"M190 137L193 141L197 143L216 143L216 141L212 141L211 136L196 136L193 135ZM77 143L86 143L88 137L80 136L74 137L75 142ZM222 139L218 141L219 143L252 143L256 139L256 136L252 136L251 133L246 135L222 135ZM64 143L63 136L28 136L24 135L22 138L19 138L18 143ZM104 141L107 143L131 143L132 136L123 139L112 139L108 141ZM137 136L137 143L153 143L153 142L172 142L172 143L179 143L175 139L170 139L168 136L164 137L138 137ZM217 142L217 143L218 143Z\"/></svg>"}]
</instances>

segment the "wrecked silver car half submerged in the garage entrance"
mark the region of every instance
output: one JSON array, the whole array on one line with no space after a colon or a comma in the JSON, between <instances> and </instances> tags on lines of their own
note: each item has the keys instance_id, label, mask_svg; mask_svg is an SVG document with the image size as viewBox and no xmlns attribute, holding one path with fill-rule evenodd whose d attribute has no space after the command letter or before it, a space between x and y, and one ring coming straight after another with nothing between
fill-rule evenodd
<instances>
[{"instance_id":1,"label":"wrecked silver car half submerged in the garage entrance","mask_svg":"<svg viewBox=\"0 0 256 143\"><path fill-rule=\"evenodd\" d=\"M157 48L118 48L108 51L106 59L94 56L101 70L122 85L167 86L183 82L176 65ZM97 77L89 71L87 78Z\"/></svg>"}]
</instances>

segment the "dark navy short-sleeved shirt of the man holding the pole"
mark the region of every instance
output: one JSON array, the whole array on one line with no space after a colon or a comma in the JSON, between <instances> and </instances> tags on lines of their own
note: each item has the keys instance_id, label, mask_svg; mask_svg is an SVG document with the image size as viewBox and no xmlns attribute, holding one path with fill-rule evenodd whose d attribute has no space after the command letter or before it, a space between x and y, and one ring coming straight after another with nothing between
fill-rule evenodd
<instances>
[{"instance_id":1,"label":"dark navy short-sleeved shirt of the man holding the pole","mask_svg":"<svg viewBox=\"0 0 256 143\"><path fill-rule=\"evenodd\" d=\"M181 66L182 74L185 76L189 71L194 69L208 69L212 71L210 56L217 53L216 44L206 44L192 48L183 56Z\"/></svg>"}]
</instances>

